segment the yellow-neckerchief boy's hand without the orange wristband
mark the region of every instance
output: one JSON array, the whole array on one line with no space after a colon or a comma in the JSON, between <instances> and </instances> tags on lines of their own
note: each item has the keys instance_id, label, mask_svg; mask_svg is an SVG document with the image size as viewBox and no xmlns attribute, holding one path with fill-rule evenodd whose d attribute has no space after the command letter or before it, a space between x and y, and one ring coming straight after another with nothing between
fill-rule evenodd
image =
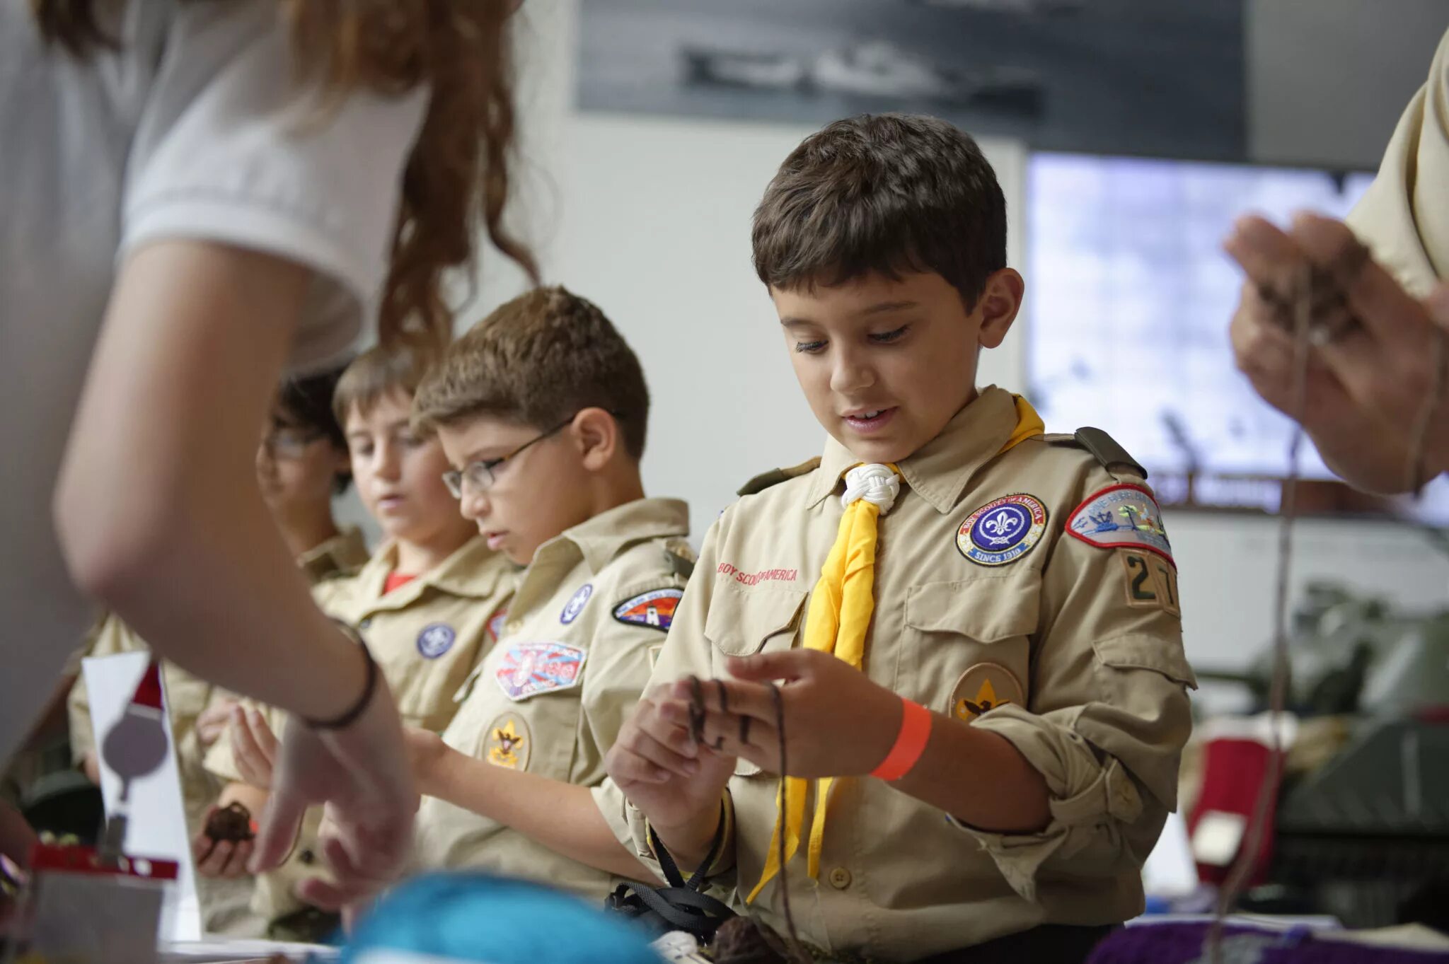
<instances>
[{"instance_id":1,"label":"yellow-neckerchief boy's hand without the orange wristband","mask_svg":"<svg viewBox=\"0 0 1449 964\"><path fill-rule=\"evenodd\" d=\"M713 835L720 795L735 773L735 757L703 750L690 735L688 692L684 682L664 683L645 693L604 757L609 776L649 818L665 844L671 828L710 822ZM682 727L672 719L681 712Z\"/></svg>"}]
</instances>

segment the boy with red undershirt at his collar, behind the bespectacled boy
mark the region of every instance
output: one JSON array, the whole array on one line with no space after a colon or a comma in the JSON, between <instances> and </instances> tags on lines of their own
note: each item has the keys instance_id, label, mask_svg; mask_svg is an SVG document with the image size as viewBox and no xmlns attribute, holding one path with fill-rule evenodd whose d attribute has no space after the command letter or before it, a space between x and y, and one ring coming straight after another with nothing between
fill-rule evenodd
<instances>
[{"instance_id":1,"label":"boy with red undershirt at his collar, behind the bespectacled boy","mask_svg":"<svg viewBox=\"0 0 1449 964\"><path fill-rule=\"evenodd\" d=\"M361 569L320 582L317 606L367 640L409 727L442 731L456 709L454 693L493 646L513 592L516 567L458 514L442 479L446 457L436 439L413 430L413 392L426 359L375 347L348 366L332 408L345 431L352 478L384 541ZM284 667L278 667L284 672ZM206 767L229 780L217 803L239 802L256 816L271 789L281 714L245 705L233 711L229 738ZM326 861L314 850L320 811L309 813L291 857L256 880L252 908L280 939L317 939L335 918ZM203 876L246 873L249 844L196 840Z\"/></svg>"}]
</instances>

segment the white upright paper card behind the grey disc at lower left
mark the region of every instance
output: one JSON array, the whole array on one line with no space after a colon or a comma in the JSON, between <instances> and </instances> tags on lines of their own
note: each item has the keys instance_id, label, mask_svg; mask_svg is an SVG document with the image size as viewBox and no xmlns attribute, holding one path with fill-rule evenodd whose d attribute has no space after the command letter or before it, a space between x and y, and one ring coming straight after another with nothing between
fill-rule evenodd
<instances>
[{"instance_id":1,"label":"white upright paper card behind the grey disc at lower left","mask_svg":"<svg viewBox=\"0 0 1449 964\"><path fill-rule=\"evenodd\" d=\"M106 743L106 734L125 715L132 693L146 664L148 653L120 653L81 661L85 689L90 695L91 727L96 745ZM162 673L162 706L165 706L165 675ZM196 893L196 868L191 866L191 835L185 824L185 803L181 796L181 770L171 737L171 718L162 715L167 744L171 753L149 776L133 780L126 806L126 854L133 857L165 857L180 864L174 884L167 886L161 909L159 941L199 941L201 938L201 902ZM120 777L106 760L100 761L100 792L106 813L116 811L120 799Z\"/></svg>"}]
</instances>

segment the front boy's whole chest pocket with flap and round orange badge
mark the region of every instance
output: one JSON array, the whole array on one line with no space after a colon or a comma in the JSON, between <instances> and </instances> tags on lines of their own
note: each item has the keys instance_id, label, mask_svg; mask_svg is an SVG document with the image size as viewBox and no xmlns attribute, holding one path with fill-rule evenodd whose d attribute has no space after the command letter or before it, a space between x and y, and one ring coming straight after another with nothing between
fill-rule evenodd
<instances>
[{"instance_id":1,"label":"front boy's whole chest pocket with flap and round orange badge","mask_svg":"<svg viewBox=\"0 0 1449 964\"><path fill-rule=\"evenodd\" d=\"M965 722L1006 702L1029 708L1040 589L1026 567L911 586L895 690Z\"/></svg>"}]
</instances>

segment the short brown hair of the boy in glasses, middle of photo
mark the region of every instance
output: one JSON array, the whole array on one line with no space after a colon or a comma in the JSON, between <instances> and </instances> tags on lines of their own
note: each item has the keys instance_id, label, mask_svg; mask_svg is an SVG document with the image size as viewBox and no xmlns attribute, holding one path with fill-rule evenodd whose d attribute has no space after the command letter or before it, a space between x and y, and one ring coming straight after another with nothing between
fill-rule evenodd
<instances>
[{"instance_id":1,"label":"short brown hair of the boy in glasses, middle of photo","mask_svg":"<svg viewBox=\"0 0 1449 964\"><path fill-rule=\"evenodd\" d=\"M625 449L643 456L649 389L639 359L593 301L535 288L459 337L413 397L423 431L494 415L548 431L584 408L619 423Z\"/></svg>"}]
</instances>

